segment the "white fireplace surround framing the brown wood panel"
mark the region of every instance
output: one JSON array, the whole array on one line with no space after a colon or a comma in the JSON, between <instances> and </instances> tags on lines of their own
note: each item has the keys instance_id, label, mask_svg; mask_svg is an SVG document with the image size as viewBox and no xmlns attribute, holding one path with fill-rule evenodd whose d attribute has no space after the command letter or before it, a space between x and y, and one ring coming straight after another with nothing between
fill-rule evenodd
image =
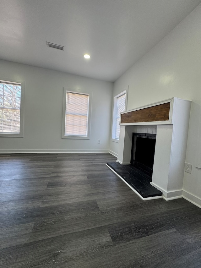
<instances>
[{"instance_id":1,"label":"white fireplace surround framing the brown wood panel","mask_svg":"<svg viewBox=\"0 0 201 268\"><path fill-rule=\"evenodd\" d=\"M166 102L170 102L168 121L120 124L117 162L130 164L133 132L156 134L153 176L150 184L163 193L165 200L171 200L182 197L191 101L174 97L126 112Z\"/></svg>"}]
</instances>

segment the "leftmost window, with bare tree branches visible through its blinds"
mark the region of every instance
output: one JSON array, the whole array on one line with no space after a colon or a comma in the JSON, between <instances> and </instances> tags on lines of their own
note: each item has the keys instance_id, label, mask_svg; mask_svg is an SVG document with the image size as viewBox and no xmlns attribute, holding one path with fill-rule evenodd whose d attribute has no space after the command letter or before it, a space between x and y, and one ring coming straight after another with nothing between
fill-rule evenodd
<instances>
[{"instance_id":1,"label":"leftmost window, with bare tree branches visible through its blinds","mask_svg":"<svg viewBox=\"0 0 201 268\"><path fill-rule=\"evenodd\" d=\"M24 83L0 81L0 136L23 137Z\"/></svg>"}]
</instances>

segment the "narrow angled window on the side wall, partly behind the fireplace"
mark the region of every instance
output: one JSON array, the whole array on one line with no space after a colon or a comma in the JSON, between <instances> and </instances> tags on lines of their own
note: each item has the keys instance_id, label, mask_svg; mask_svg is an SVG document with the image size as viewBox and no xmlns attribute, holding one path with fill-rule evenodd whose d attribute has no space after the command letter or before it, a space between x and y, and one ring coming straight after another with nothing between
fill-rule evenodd
<instances>
[{"instance_id":1,"label":"narrow angled window on the side wall, partly behind the fireplace","mask_svg":"<svg viewBox=\"0 0 201 268\"><path fill-rule=\"evenodd\" d=\"M112 139L118 141L120 133L120 113L125 111L126 90L114 97Z\"/></svg>"}]
</instances>

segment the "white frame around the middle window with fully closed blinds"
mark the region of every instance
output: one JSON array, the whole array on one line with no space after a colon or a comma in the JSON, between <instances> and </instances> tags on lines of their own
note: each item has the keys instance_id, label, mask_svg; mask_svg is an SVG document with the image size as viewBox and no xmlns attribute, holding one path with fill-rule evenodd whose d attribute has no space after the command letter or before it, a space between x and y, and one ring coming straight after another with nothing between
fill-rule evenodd
<instances>
[{"instance_id":1,"label":"white frame around the middle window with fully closed blinds","mask_svg":"<svg viewBox=\"0 0 201 268\"><path fill-rule=\"evenodd\" d=\"M89 113L88 113L88 126L87 126L87 136L65 136L65 121L66 121L66 93L78 93L89 95ZM92 106L92 92L89 90L80 90L80 89L69 89L63 88L63 109L62 109L62 139L90 139L90 129L91 129L91 106Z\"/></svg>"}]
</instances>

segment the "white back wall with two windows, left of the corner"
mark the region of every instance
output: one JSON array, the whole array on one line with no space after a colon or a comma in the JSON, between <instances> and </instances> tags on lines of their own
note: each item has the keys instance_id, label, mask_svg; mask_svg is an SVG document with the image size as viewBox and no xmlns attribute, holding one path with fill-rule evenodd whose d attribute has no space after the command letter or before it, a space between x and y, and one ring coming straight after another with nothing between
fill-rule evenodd
<instances>
[{"instance_id":1,"label":"white back wall with two windows, left of the corner","mask_svg":"<svg viewBox=\"0 0 201 268\"><path fill-rule=\"evenodd\" d=\"M0 137L0 153L108 151L113 83L7 61L0 79L25 81L24 137ZM61 138L63 87L92 91L89 140Z\"/></svg>"}]
</instances>

